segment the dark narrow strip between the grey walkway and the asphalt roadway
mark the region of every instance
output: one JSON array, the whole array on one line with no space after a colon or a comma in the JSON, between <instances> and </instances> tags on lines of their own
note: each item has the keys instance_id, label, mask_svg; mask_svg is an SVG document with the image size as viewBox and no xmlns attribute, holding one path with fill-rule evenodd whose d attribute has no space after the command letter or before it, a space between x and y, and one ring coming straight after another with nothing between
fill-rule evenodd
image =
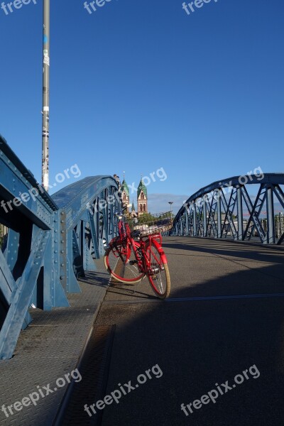
<instances>
[{"instance_id":1,"label":"dark narrow strip between the grey walkway and the asphalt roadway","mask_svg":"<svg viewBox=\"0 0 284 426\"><path fill-rule=\"evenodd\" d=\"M111 350L115 325L95 327L92 331L78 370L82 381L72 383L55 422L55 426L100 426L103 411L89 415L84 411L88 406L104 399L107 390ZM92 410L91 410L92 413Z\"/></svg>"}]
</instances>

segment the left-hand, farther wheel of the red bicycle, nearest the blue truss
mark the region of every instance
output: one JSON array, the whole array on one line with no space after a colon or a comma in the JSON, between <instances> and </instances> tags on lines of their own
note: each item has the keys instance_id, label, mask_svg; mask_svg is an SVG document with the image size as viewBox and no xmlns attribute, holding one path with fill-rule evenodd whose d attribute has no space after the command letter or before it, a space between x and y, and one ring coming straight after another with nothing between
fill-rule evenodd
<instances>
[{"instance_id":1,"label":"left-hand, farther wheel of the red bicycle, nearest the blue truss","mask_svg":"<svg viewBox=\"0 0 284 426\"><path fill-rule=\"evenodd\" d=\"M138 242L135 245L137 249L140 247ZM111 245L104 255L104 265L111 276L121 283L135 284L145 275L139 271L136 256L129 243Z\"/></svg>"}]
</instances>

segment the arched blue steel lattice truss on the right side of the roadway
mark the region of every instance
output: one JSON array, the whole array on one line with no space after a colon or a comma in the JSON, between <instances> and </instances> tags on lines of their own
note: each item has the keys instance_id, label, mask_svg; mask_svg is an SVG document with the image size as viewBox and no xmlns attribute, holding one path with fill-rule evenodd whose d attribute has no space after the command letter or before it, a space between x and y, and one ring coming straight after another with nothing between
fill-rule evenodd
<instances>
[{"instance_id":1,"label":"arched blue steel lattice truss on the right side of the roadway","mask_svg":"<svg viewBox=\"0 0 284 426\"><path fill-rule=\"evenodd\" d=\"M255 195L249 195L251 185L257 189ZM170 235L219 239L229 236L239 241L257 238L263 244L281 244L284 229L282 226L280 235L276 235L274 208L278 202L284 209L280 185L284 185L284 173L235 176L213 182L182 205Z\"/></svg>"}]
</instances>

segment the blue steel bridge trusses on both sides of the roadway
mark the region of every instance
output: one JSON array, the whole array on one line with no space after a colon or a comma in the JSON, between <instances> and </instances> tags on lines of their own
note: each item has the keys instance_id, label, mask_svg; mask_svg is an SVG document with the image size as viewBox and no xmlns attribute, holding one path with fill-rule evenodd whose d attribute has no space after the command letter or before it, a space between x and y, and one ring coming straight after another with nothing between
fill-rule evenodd
<instances>
[{"instance_id":1,"label":"blue steel bridge trusses on both sides of the roadway","mask_svg":"<svg viewBox=\"0 0 284 426\"><path fill-rule=\"evenodd\" d=\"M249 176L246 185L238 177L214 182L182 205L170 235L281 244L284 230L281 223L276 229L274 209L284 209L283 184L280 173ZM68 307L67 296L81 291L77 279L95 273L104 243L116 236L118 190L114 178L100 175L50 196L0 137L0 223L9 229L0 250L0 359L13 356L31 323L31 305ZM34 196L15 202L23 193Z\"/></svg>"}]
</instances>

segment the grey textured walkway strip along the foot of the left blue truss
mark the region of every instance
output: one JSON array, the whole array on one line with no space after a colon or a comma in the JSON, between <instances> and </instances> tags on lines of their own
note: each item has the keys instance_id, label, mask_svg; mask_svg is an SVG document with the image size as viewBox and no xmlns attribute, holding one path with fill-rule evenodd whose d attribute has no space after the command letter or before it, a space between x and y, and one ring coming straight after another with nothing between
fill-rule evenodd
<instances>
[{"instance_id":1,"label":"grey textured walkway strip along the foot of the left blue truss","mask_svg":"<svg viewBox=\"0 0 284 426\"><path fill-rule=\"evenodd\" d=\"M69 295L70 307L31 310L33 322L21 332L13 358L0 361L1 426L53 425L67 391L65 374L77 368L109 283L103 261L97 261L97 266L99 272L88 273L79 281L82 293ZM58 378L65 380L65 386L60 382L62 387L57 388ZM48 386L53 393L45 389ZM33 395L36 405L30 403L18 412L14 408L13 414L9 412L9 405L32 393L39 395L38 401ZM9 417L1 411L3 404Z\"/></svg>"}]
</instances>

